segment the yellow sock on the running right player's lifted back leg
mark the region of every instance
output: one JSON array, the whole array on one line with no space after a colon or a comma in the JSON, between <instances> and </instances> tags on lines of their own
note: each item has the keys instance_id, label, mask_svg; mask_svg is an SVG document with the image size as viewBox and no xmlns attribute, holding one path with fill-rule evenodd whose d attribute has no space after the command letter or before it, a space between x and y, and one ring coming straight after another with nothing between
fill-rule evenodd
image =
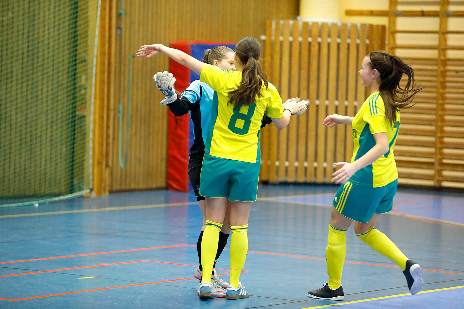
<instances>
[{"instance_id":1,"label":"yellow sock on the running right player's lifted back leg","mask_svg":"<svg viewBox=\"0 0 464 309\"><path fill-rule=\"evenodd\" d=\"M385 255L388 259L391 259L394 263L401 267L401 270L406 269L406 255L398 249L395 244L378 229L371 229L364 234L356 234L362 241L369 245L372 249Z\"/></svg>"}]
</instances>

